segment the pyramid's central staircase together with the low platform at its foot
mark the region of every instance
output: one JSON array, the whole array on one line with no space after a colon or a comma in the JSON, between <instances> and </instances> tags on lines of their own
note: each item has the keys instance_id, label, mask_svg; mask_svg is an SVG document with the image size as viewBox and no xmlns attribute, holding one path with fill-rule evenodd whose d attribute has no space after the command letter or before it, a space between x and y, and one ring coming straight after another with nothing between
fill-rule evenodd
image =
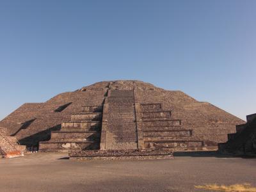
<instances>
[{"instance_id":1,"label":"pyramid's central staircase together with the low platform at its foot","mask_svg":"<svg viewBox=\"0 0 256 192\"><path fill-rule=\"evenodd\" d=\"M104 102L100 150L72 150L70 159L173 159L172 150L138 148L134 90L111 90Z\"/></svg>"}]
</instances>

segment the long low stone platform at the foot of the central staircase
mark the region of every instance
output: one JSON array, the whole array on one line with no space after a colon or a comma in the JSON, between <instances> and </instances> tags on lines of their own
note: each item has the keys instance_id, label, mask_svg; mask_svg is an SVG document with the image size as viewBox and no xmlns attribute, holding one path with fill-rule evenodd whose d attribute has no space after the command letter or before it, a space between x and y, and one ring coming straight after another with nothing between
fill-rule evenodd
<instances>
[{"instance_id":1,"label":"long low stone platform at the foot of the central staircase","mask_svg":"<svg viewBox=\"0 0 256 192\"><path fill-rule=\"evenodd\" d=\"M72 150L70 159L173 159L172 150Z\"/></svg>"}]
</instances>

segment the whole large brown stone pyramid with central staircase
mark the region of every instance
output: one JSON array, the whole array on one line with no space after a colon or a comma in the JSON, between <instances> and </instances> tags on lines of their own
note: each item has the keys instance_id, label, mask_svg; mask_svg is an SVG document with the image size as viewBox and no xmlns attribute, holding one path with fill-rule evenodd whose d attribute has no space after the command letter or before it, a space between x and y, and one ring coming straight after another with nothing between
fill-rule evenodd
<instances>
[{"instance_id":1,"label":"whole large brown stone pyramid with central staircase","mask_svg":"<svg viewBox=\"0 0 256 192\"><path fill-rule=\"evenodd\" d=\"M98 158L93 150L104 159L109 154L154 158L170 157L173 150L216 148L243 123L180 91L142 81L103 81L44 103L24 104L0 126L22 145Z\"/></svg>"}]
</instances>

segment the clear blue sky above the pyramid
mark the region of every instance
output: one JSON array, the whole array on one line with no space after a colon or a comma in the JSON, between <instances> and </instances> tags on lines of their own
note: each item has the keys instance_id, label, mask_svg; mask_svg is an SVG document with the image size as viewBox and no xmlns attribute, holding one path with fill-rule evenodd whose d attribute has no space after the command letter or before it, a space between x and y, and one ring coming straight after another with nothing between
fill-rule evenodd
<instances>
[{"instance_id":1,"label":"clear blue sky above the pyramid","mask_svg":"<svg viewBox=\"0 0 256 192\"><path fill-rule=\"evenodd\" d=\"M0 1L0 119L97 81L256 113L256 1Z\"/></svg>"}]
</instances>

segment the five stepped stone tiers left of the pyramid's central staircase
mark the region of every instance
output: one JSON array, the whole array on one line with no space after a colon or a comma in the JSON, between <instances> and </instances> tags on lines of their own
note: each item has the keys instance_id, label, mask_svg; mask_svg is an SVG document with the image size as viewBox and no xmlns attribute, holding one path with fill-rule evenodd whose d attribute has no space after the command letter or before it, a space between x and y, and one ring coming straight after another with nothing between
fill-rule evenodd
<instances>
[{"instance_id":1,"label":"five stepped stone tiers left of the pyramid's central staircase","mask_svg":"<svg viewBox=\"0 0 256 192\"><path fill-rule=\"evenodd\" d=\"M51 140L39 143L40 151L99 149L101 122L102 106L83 106L80 113L61 124L60 131L51 132Z\"/></svg>"}]
</instances>

